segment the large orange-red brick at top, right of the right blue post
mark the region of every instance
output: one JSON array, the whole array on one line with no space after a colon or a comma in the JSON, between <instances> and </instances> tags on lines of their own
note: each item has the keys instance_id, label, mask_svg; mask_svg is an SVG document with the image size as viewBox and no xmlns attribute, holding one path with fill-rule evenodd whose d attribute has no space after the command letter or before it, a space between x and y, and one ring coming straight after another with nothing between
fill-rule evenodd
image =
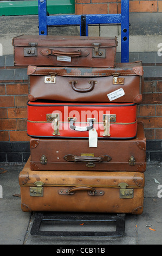
<instances>
[{"instance_id":1,"label":"large orange-red brick at top, right of the right blue post","mask_svg":"<svg viewBox=\"0 0 162 256\"><path fill-rule=\"evenodd\" d=\"M158 11L157 1L130 1L130 13L153 13Z\"/></svg>"}]
</instances>

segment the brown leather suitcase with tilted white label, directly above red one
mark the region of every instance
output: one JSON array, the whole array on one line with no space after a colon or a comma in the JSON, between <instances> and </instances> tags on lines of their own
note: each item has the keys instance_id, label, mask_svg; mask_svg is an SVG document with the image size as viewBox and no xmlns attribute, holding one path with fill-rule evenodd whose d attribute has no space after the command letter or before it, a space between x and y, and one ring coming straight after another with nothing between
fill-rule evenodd
<instances>
[{"instance_id":1,"label":"brown leather suitcase with tilted white label, directly above red one","mask_svg":"<svg viewBox=\"0 0 162 256\"><path fill-rule=\"evenodd\" d=\"M117 63L115 68L28 66L27 74L30 101L142 101L144 72L140 61Z\"/></svg>"}]
</instances>

